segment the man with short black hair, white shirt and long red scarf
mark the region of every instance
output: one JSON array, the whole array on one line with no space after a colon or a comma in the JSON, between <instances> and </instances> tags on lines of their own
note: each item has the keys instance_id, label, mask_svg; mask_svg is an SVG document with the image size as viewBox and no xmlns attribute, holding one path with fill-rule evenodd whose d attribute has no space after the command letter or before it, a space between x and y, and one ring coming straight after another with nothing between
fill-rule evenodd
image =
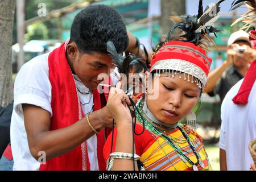
<instances>
[{"instance_id":1,"label":"man with short black hair, white shirt and long red scarf","mask_svg":"<svg viewBox=\"0 0 256 182\"><path fill-rule=\"evenodd\" d=\"M14 84L11 150L14 170L104 170L106 127L113 118L106 97L97 92L116 62L108 51L137 53L122 16L104 5L76 15L71 38L20 69Z\"/></svg>"}]
</instances>

